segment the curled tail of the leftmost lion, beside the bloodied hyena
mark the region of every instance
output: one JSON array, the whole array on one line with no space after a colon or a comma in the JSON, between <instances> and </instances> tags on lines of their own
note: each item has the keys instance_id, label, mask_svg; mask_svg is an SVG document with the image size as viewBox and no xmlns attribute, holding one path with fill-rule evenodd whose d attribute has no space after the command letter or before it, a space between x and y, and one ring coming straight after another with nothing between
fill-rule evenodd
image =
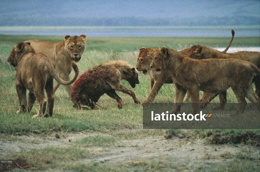
<instances>
[{"instance_id":1,"label":"curled tail of the leftmost lion, beside the bloodied hyena","mask_svg":"<svg viewBox=\"0 0 260 172\"><path fill-rule=\"evenodd\" d=\"M51 73L51 76L58 82L58 83L60 83L61 85L70 85L70 84L72 84L73 82L75 82L76 81L76 79L77 79L77 77L79 76L79 68L78 68L78 66L77 66L77 64L76 63L72 63L72 68L73 68L73 70L75 71L75 76L73 77L73 79L71 79L70 81L64 81L64 80L62 80L59 76L58 76L58 74L57 74L57 72L55 71L55 69L53 70L53 69L49 69L49 67L48 67L48 70L49 70L49 72Z\"/></svg>"}]
</instances>

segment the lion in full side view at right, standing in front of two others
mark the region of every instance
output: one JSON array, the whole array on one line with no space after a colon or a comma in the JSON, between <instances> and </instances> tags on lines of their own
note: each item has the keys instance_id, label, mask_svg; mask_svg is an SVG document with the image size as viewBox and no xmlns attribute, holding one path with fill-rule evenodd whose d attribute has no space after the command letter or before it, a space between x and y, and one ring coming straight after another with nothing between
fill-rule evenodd
<instances>
[{"instance_id":1,"label":"lion in full side view at right, standing in front of two others","mask_svg":"<svg viewBox=\"0 0 260 172\"><path fill-rule=\"evenodd\" d=\"M252 80L260 75L260 71L250 62L238 59L191 59L174 49L161 47L150 67L162 78L172 77L176 90L173 114L180 111L187 91L193 103L193 114L198 114L200 90L216 94L229 87L239 103L236 114L244 112L247 104L245 97L259 106L260 98L253 91Z\"/></svg>"}]
</instances>

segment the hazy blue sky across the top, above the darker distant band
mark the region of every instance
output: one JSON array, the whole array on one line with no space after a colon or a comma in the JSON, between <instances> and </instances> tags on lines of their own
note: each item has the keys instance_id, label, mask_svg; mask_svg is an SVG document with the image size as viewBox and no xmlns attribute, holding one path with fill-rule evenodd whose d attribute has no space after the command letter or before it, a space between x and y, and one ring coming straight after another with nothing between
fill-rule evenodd
<instances>
[{"instance_id":1,"label":"hazy blue sky across the top, above the darker distant band","mask_svg":"<svg viewBox=\"0 0 260 172\"><path fill-rule=\"evenodd\" d=\"M36 18L189 18L260 16L259 0L196 0L196 1L103 1L103 0L14 0L2 1L0 17L5 21L16 17ZM5 21L2 22L2 26ZM17 21L19 23L19 21ZM77 25L77 23L75 23Z\"/></svg>"}]
</instances>

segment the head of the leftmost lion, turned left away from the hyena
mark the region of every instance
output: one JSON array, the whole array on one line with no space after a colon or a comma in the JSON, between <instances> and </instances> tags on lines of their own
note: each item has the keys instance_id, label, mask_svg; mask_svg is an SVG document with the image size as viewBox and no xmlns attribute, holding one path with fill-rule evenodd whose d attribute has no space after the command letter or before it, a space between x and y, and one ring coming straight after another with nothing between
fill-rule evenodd
<instances>
[{"instance_id":1,"label":"head of the leftmost lion, turned left away from the hyena","mask_svg":"<svg viewBox=\"0 0 260 172\"><path fill-rule=\"evenodd\" d=\"M30 45L30 42L18 42L11 50L9 57L7 58L7 62L16 68L24 54L29 52L35 54L34 49Z\"/></svg>"}]
</instances>

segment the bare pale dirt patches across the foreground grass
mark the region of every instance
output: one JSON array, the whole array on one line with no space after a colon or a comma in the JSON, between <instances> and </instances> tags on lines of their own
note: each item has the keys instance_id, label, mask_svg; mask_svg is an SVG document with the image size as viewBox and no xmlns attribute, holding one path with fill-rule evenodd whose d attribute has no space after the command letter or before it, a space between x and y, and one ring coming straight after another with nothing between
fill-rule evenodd
<instances>
[{"instance_id":1,"label":"bare pale dirt patches across the foreground grass","mask_svg":"<svg viewBox=\"0 0 260 172\"><path fill-rule=\"evenodd\" d=\"M47 146L69 146L77 139L88 136L97 136L100 133L72 133L49 135L23 135L16 140L1 139L0 155L10 155L15 152L29 151ZM107 134L104 134L108 136ZM144 163L146 161L167 161L181 163L198 168L212 167L216 164L230 164L242 159L251 159L259 166L260 150L244 144L208 144L205 139L173 137L166 139L164 136L145 137L135 140L120 140L119 144L105 147L89 146L87 149L94 154L92 159L81 159L79 162L88 163Z\"/></svg>"}]
</instances>

